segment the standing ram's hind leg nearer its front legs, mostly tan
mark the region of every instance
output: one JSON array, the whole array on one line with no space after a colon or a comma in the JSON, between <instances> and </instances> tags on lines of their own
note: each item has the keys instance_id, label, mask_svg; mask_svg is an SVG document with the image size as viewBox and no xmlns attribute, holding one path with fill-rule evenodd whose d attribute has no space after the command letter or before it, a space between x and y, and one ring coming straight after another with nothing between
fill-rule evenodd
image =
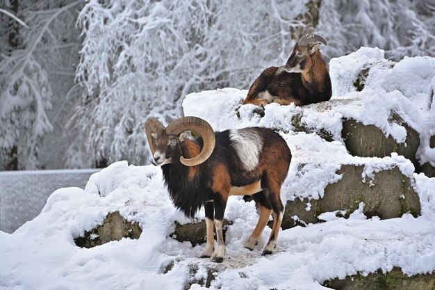
<instances>
[{"instance_id":1,"label":"standing ram's hind leg nearer its front legs, mostly tan","mask_svg":"<svg viewBox=\"0 0 435 290\"><path fill-rule=\"evenodd\" d=\"M245 248L249 250L254 250L255 246L258 244L258 241L261 238L261 234L263 233L263 229L268 224L270 213L272 212L268 199L265 197L263 191L252 195L252 198L256 202L258 211L260 211L260 217L258 218L258 222L256 224L254 232L252 232L251 237L245 243Z\"/></svg>"}]
</instances>

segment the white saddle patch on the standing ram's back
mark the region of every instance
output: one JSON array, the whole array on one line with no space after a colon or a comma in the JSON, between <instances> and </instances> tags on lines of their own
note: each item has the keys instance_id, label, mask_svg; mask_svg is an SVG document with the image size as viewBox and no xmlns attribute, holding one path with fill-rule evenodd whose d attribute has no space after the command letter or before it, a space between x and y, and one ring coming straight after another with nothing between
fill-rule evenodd
<instances>
[{"instance_id":1,"label":"white saddle patch on the standing ram's back","mask_svg":"<svg viewBox=\"0 0 435 290\"><path fill-rule=\"evenodd\" d=\"M229 131L229 140L233 143L242 161L242 166L247 171L252 171L258 166L260 152L263 149L263 138L254 129L238 129Z\"/></svg>"}]
</instances>

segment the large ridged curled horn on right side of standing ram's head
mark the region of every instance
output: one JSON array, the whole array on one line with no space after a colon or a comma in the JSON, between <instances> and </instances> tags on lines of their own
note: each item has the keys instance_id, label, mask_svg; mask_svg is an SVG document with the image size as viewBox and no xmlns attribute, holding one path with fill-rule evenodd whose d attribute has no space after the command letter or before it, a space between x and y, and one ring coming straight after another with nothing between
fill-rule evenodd
<instances>
[{"instance_id":1,"label":"large ridged curled horn on right side of standing ram's head","mask_svg":"<svg viewBox=\"0 0 435 290\"><path fill-rule=\"evenodd\" d=\"M185 166L197 166L210 157L211 153L215 149L215 131L213 128L201 118L197 117L183 117L174 120L171 124L167 125L166 134L179 135L183 131L195 130L199 136L202 137L204 145L202 151L195 157L186 159L183 156L180 157L180 162Z\"/></svg>"}]
</instances>

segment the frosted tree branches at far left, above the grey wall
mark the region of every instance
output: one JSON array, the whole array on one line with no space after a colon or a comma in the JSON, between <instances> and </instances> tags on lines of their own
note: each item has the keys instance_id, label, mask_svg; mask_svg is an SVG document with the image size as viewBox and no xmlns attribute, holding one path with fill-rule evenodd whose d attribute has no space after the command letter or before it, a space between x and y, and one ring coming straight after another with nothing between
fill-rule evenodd
<instances>
[{"instance_id":1,"label":"frosted tree branches at far left, above the grey wall","mask_svg":"<svg viewBox=\"0 0 435 290\"><path fill-rule=\"evenodd\" d=\"M42 142L53 128L47 111L57 97L48 68L57 66L79 3L1 1L24 24L0 13L0 170L41 166Z\"/></svg>"}]
</instances>

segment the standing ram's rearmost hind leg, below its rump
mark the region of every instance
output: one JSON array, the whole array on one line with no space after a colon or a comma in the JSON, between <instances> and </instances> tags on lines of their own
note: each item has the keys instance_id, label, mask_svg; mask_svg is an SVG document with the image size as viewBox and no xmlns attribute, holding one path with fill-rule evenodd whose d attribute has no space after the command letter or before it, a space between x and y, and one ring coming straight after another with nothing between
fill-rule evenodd
<instances>
[{"instance_id":1,"label":"standing ram's rearmost hind leg, below its rump","mask_svg":"<svg viewBox=\"0 0 435 290\"><path fill-rule=\"evenodd\" d=\"M280 197L281 185L276 184L275 182L270 185L270 189L266 193L266 196L268 197L270 206L272 207L273 226L268 244L263 248L263 253L261 255L270 255L274 248L277 248L279 228L281 227L282 218L284 216L284 205L282 204Z\"/></svg>"}]
</instances>

